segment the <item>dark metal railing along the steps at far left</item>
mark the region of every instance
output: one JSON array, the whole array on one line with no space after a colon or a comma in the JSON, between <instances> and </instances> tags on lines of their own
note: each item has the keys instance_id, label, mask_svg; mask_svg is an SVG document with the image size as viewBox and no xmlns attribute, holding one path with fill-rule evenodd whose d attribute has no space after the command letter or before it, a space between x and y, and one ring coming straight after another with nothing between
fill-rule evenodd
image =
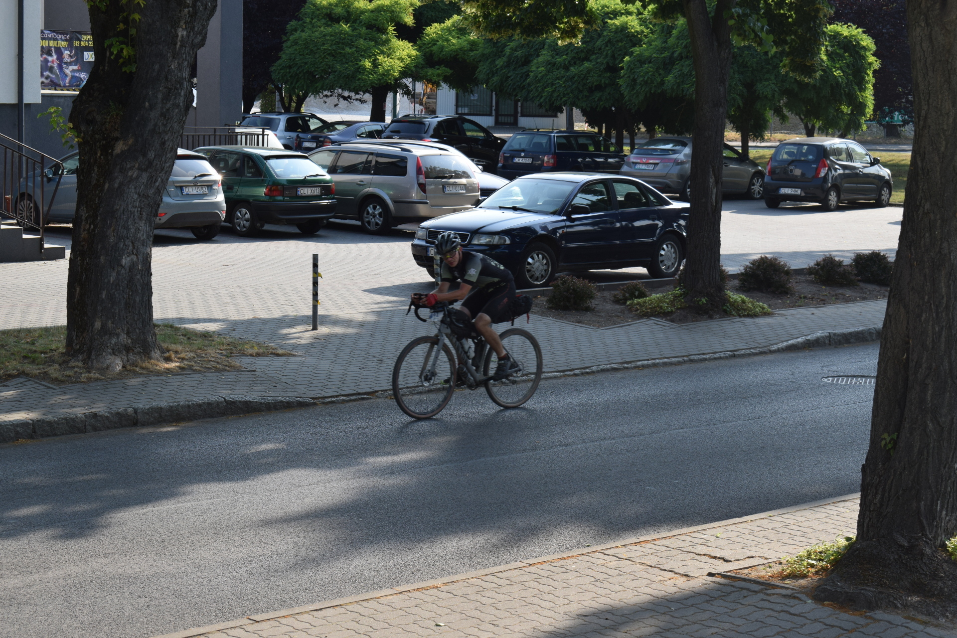
<instances>
[{"instance_id":1,"label":"dark metal railing along the steps at far left","mask_svg":"<svg viewBox=\"0 0 957 638\"><path fill-rule=\"evenodd\" d=\"M38 232L40 253L43 228L62 177L62 162L0 133L0 218L12 218L24 231Z\"/></svg>"}]
</instances>

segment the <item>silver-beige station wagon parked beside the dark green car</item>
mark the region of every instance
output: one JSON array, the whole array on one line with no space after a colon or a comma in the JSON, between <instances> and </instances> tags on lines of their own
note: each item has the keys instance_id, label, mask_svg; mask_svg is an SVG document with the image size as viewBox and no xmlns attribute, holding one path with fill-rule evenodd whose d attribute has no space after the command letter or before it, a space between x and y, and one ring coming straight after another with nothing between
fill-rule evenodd
<instances>
[{"instance_id":1,"label":"silver-beige station wagon parked beside the dark green car","mask_svg":"<svg viewBox=\"0 0 957 638\"><path fill-rule=\"evenodd\" d=\"M405 222L474 208L476 165L438 144L344 142L309 154L336 185L336 217L381 234ZM480 173L479 173L480 174Z\"/></svg>"}]
</instances>

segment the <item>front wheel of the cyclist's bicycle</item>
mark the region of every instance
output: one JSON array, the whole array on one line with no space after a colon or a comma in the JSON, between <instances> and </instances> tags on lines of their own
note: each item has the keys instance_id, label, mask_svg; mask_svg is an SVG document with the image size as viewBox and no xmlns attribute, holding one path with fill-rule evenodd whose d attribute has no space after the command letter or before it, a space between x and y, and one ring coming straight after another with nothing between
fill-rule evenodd
<instances>
[{"instance_id":1,"label":"front wheel of the cyclist's bicycle","mask_svg":"<svg viewBox=\"0 0 957 638\"><path fill-rule=\"evenodd\" d=\"M438 351L438 339L420 337L407 345L392 368L392 395L413 419L435 416L456 389L456 364L448 344Z\"/></svg>"}]
</instances>

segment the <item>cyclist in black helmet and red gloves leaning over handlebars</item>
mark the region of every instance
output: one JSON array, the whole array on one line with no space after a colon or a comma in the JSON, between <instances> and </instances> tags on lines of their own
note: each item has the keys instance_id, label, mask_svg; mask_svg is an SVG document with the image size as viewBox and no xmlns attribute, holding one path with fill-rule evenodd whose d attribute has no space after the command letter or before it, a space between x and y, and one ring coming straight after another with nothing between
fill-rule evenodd
<instances>
[{"instance_id":1,"label":"cyclist in black helmet and red gloves leaning over handlebars","mask_svg":"<svg viewBox=\"0 0 957 638\"><path fill-rule=\"evenodd\" d=\"M515 279L495 259L481 253L463 251L462 242L455 232L443 232L435 240L435 253L441 255L441 282L432 293L413 293L412 301L419 305L434 306L439 301L462 301L461 310L475 323L476 330L485 338L499 364L492 375L493 381L501 381L519 370L501 345L499 333L492 324L509 319L509 305L515 298ZM449 292L450 285L459 281L458 290Z\"/></svg>"}]
</instances>

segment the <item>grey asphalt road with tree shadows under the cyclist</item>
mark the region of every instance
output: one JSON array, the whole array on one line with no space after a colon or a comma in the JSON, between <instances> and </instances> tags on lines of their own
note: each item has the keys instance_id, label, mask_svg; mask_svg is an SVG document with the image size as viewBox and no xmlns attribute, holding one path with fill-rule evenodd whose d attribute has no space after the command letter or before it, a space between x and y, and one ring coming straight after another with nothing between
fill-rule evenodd
<instances>
[{"instance_id":1,"label":"grey asphalt road with tree shadows under the cyclist","mask_svg":"<svg viewBox=\"0 0 957 638\"><path fill-rule=\"evenodd\" d=\"M151 636L857 492L878 346L0 446L0 636Z\"/></svg>"}]
</instances>

